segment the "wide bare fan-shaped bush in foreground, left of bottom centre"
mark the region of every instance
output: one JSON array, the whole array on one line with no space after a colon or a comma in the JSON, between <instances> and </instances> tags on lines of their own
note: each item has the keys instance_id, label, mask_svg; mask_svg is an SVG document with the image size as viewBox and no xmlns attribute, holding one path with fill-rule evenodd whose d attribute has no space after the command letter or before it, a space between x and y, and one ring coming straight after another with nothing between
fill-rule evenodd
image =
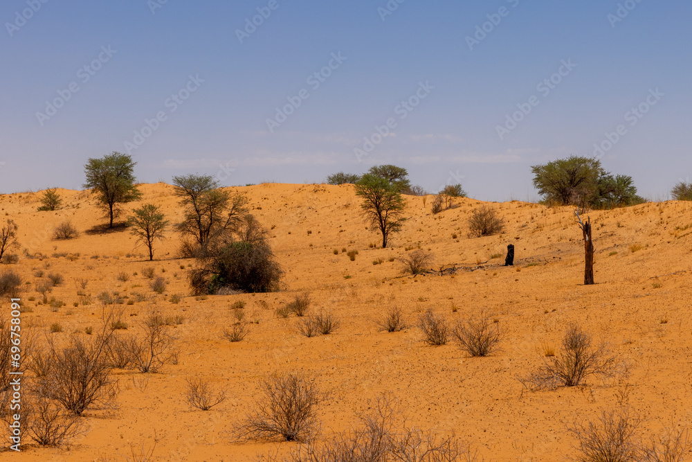
<instances>
[{"instance_id":1,"label":"wide bare fan-shaped bush in foreground, left of bottom centre","mask_svg":"<svg viewBox=\"0 0 692 462\"><path fill-rule=\"evenodd\" d=\"M297 373L272 375L260 389L264 396L237 427L239 438L307 441L315 434L322 396L312 380Z\"/></svg>"}]
</instances>

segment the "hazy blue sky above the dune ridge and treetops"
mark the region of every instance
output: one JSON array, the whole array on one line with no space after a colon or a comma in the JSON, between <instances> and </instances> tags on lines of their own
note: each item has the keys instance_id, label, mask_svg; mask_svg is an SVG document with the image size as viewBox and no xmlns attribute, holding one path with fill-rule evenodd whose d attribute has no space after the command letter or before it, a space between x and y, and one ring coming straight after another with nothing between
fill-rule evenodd
<instances>
[{"instance_id":1,"label":"hazy blue sky above the dune ridge and treetops","mask_svg":"<svg viewBox=\"0 0 692 462\"><path fill-rule=\"evenodd\" d=\"M431 192L535 200L530 166L576 154L666 199L692 177L690 17L682 0L6 0L0 193L81 188L86 159L118 151L147 183L394 163Z\"/></svg>"}]
</instances>

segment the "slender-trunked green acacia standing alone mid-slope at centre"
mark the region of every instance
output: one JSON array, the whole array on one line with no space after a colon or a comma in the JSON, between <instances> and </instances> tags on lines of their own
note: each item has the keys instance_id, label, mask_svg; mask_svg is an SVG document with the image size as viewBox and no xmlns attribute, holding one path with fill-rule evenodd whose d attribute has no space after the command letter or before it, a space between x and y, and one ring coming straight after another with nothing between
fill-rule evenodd
<instances>
[{"instance_id":1,"label":"slender-trunked green acacia standing alone mid-slope at centre","mask_svg":"<svg viewBox=\"0 0 692 462\"><path fill-rule=\"evenodd\" d=\"M382 233L384 249L390 234L401 231L406 221L403 217L406 201L401 197L397 184L372 173L366 173L358 181L356 195L363 198L361 208L365 219L370 222L372 229L379 229Z\"/></svg>"}]
</instances>

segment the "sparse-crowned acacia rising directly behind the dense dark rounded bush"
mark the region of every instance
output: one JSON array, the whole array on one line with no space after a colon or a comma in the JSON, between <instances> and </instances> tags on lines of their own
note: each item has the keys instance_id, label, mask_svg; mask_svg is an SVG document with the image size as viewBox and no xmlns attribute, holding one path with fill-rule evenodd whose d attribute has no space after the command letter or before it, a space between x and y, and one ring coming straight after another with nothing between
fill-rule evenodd
<instances>
[{"instance_id":1,"label":"sparse-crowned acacia rising directly behind the dense dark rounded bush","mask_svg":"<svg viewBox=\"0 0 692 462\"><path fill-rule=\"evenodd\" d=\"M173 186L185 209L185 217L176 228L185 235L194 236L200 248L211 238L237 227L246 213L248 199L242 194L230 195L221 190L219 181L211 175L173 177Z\"/></svg>"}]
</instances>

